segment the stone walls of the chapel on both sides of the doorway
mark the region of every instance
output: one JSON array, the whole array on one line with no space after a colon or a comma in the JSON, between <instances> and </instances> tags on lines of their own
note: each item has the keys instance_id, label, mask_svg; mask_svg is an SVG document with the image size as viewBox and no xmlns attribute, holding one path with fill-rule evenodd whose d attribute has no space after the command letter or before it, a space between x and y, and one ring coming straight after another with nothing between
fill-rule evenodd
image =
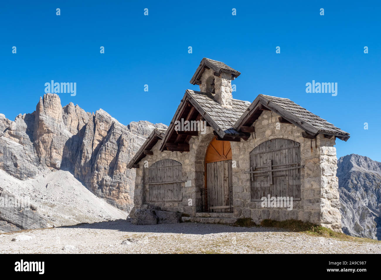
<instances>
[{"instance_id":1,"label":"stone walls of the chapel on both sides of the doorway","mask_svg":"<svg viewBox=\"0 0 381 280\"><path fill-rule=\"evenodd\" d=\"M287 220L298 219L312 222L334 230L341 231L339 213L338 178L336 177L337 158L335 138L324 138L322 134L315 139L302 137L302 130L295 125L279 123L279 115L264 111L255 126L255 138L247 141L231 142L232 160L237 167L233 168L233 206L237 218L252 218L255 222L263 219ZM279 128L279 129L277 129ZM201 210L200 189L205 185L205 153L213 139L213 130L207 127L206 134L192 137L189 152L160 152L161 141L152 149L153 155L147 155L136 169L135 205L151 204L162 210L179 211L194 216ZM293 202L293 210L287 208L262 208L261 202L251 201L249 154L259 144L275 138L290 139L300 143L301 151L301 200ZM182 179L191 181L182 188L182 202L149 202L148 168L161 159L173 159L182 164ZM147 160L146 168L144 162ZM189 186L188 186L189 185ZM145 186L142 188L142 186ZM189 198L192 200L189 203Z\"/></svg>"}]
</instances>

